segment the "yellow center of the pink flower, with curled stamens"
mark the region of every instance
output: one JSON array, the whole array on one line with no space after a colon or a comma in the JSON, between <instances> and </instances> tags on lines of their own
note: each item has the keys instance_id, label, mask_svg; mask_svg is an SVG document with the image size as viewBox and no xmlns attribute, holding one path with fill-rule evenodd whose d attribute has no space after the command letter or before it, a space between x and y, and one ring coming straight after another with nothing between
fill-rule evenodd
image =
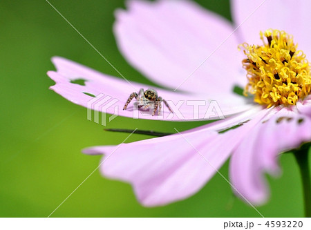
<instances>
[{"instance_id":1,"label":"yellow center of the pink flower, with curled stamens","mask_svg":"<svg viewBox=\"0 0 311 230\"><path fill-rule=\"evenodd\" d=\"M244 95L254 95L254 102L268 108L296 104L311 90L310 64L305 54L284 31L266 30L260 35L263 46L239 46L247 56L242 61L249 80Z\"/></svg>"}]
</instances>

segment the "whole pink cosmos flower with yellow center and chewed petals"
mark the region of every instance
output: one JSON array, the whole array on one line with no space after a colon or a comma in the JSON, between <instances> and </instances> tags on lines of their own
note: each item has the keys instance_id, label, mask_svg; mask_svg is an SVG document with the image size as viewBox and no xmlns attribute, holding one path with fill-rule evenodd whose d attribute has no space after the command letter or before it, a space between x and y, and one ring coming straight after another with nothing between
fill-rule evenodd
<instances>
[{"instance_id":1,"label":"whole pink cosmos flower with yellow center and chewed petals","mask_svg":"<svg viewBox=\"0 0 311 230\"><path fill-rule=\"evenodd\" d=\"M127 9L115 14L117 45L129 63L151 81L178 88L155 88L161 97L172 106L180 100L215 99L226 117L117 148L84 149L90 155L104 154L102 174L130 182L144 206L193 195L230 156L234 193L263 204L269 197L264 173L278 175L279 153L311 140L311 77L305 55L311 53L310 1L295 2L294 7L284 0L231 3L234 23L191 1L128 1ZM64 58L54 57L53 63L57 71L48 75L56 84L51 88L82 106L92 99L90 94L103 93L119 99L118 115L132 117L133 111L122 110L126 99L133 88L149 88ZM84 79L84 85L74 84L75 79ZM236 86L247 97L236 94ZM183 120L194 119L186 103L178 111ZM161 119L180 120L167 115L164 110Z\"/></svg>"}]
</instances>

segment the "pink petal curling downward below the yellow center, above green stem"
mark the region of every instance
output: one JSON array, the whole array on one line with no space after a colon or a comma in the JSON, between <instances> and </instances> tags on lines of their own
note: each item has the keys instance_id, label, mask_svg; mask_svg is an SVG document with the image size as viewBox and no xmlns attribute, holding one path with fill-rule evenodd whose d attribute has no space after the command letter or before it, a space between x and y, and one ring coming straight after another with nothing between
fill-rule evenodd
<instances>
[{"instance_id":1,"label":"pink petal curling downward below the yellow center, above green stem","mask_svg":"<svg viewBox=\"0 0 311 230\"><path fill-rule=\"evenodd\" d=\"M243 199L252 204L263 204L269 195L263 173L276 175L279 153L310 141L310 126L309 117L289 108L255 126L234 151L230 162L230 178L236 195L243 195Z\"/></svg>"}]
</instances>

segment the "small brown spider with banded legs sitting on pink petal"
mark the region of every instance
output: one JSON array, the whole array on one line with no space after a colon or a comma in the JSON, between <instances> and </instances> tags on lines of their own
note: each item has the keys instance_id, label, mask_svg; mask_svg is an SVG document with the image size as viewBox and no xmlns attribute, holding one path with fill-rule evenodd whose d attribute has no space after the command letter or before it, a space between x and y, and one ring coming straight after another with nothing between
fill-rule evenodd
<instances>
[{"instance_id":1,"label":"small brown spider with banded legs sitting on pink petal","mask_svg":"<svg viewBox=\"0 0 311 230\"><path fill-rule=\"evenodd\" d=\"M135 92L131 93L131 95L129 96L129 99L127 99L127 102L124 105L123 110L127 108L128 104L131 102L131 100L134 97L139 102L138 108L140 108L144 111L149 110L149 108L154 104L154 109L153 109L152 115L155 115L158 108L159 108L158 109L158 115L160 115L161 108L162 108L161 102L164 102L164 104L167 106L167 108L169 108L169 111L171 111L171 113L173 113L173 111L169 107L169 104L167 104L167 101L162 99L162 97L158 97L157 91L154 90L153 88L149 88L146 91L144 91L144 89L141 88L139 93L135 93Z\"/></svg>"}]
</instances>

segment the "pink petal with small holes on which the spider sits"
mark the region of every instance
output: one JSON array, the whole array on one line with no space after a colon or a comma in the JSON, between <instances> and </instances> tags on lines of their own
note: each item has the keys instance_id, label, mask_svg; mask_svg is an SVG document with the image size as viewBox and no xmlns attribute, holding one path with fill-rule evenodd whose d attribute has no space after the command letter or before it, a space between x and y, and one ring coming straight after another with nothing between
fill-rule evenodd
<instances>
[{"instance_id":1,"label":"pink petal with small holes on which the spider sits","mask_svg":"<svg viewBox=\"0 0 311 230\"><path fill-rule=\"evenodd\" d=\"M50 87L56 93L70 100L70 102L88 108L91 107L95 111L104 111L105 113L111 114L117 113L117 115L124 117L137 117L135 111L133 111L133 102L135 102L135 99L125 111L123 111L123 106L131 93L135 92L135 90L138 92L140 88L147 90L149 86L135 82L129 83L124 79L104 75L62 57L54 57L53 63L57 68L57 72L49 71L48 76L56 82L55 86ZM86 80L85 86L70 82L75 79ZM170 114L167 107L163 104L162 111L164 113L162 113L162 116L152 116L150 113L140 111L138 113L139 118L161 120L219 119L217 115L232 115L245 111L253 106L252 104L245 104L243 97L237 100L236 104L230 101L230 97L217 97L217 106L220 106L221 111L215 113L214 116L211 113L211 117L208 117L206 114L211 102L205 95L190 95L155 87L152 88L158 91L159 96L167 100L174 114ZM95 96L102 94L102 97L99 96L97 97L98 99L94 99L94 97L84 93L91 93ZM195 113L194 106L191 103L193 104L197 101L205 105L198 107L198 113ZM175 105L180 105L180 107ZM107 109L105 109L106 107Z\"/></svg>"}]
</instances>

